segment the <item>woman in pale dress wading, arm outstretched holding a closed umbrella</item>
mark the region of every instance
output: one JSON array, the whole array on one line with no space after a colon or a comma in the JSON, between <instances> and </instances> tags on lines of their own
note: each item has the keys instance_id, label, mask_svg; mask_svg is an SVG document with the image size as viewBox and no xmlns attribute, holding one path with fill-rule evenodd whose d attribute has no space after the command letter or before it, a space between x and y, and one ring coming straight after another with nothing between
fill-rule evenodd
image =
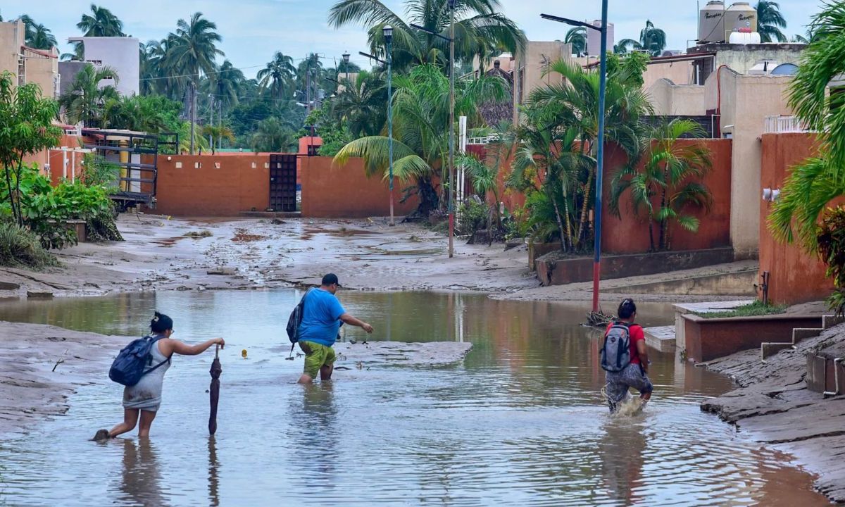
<instances>
[{"instance_id":1,"label":"woman in pale dress wading, arm outstretched holding a closed umbrella","mask_svg":"<svg viewBox=\"0 0 845 507\"><path fill-rule=\"evenodd\" d=\"M98 430L94 440L113 439L119 434L132 431L139 417L141 426L138 429L138 436L149 437L155 413L161 406L161 385L164 382L164 373L167 368L170 368L172 355L177 353L182 356L196 356L208 350L210 346L220 345L223 348L226 345L222 338L212 338L196 345L173 340L171 338L173 320L158 312L155 312L155 317L150 322L150 331L150 336L155 340L150 348L151 363L162 363L161 366L144 374L138 384L123 389L123 423L118 424L111 431Z\"/></svg>"}]
</instances>

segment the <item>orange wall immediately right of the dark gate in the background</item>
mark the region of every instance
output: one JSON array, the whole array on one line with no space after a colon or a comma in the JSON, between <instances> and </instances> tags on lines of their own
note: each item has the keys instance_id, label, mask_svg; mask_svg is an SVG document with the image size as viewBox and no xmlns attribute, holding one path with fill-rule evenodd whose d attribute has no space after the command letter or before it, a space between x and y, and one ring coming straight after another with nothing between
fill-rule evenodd
<instances>
[{"instance_id":1,"label":"orange wall immediately right of the dark gate in the background","mask_svg":"<svg viewBox=\"0 0 845 507\"><path fill-rule=\"evenodd\" d=\"M363 159L350 159L346 166L333 166L328 156L302 157L303 216L315 218L361 218L390 215L390 189L378 176L367 177ZM400 203L402 189L395 180L396 216L417 208L416 196Z\"/></svg>"}]
</instances>

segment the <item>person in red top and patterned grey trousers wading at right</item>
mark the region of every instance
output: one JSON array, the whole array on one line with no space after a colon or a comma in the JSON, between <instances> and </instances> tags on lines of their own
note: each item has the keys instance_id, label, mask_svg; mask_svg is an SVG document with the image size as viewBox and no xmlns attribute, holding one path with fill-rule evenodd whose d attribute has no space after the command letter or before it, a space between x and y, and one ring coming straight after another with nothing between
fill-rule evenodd
<instances>
[{"instance_id":1,"label":"person in red top and patterned grey trousers wading at right","mask_svg":"<svg viewBox=\"0 0 845 507\"><path fill-rule=\"evenodd\" d=\"M605 394L608 396L610 412L615 412L619 404L628 398L628 390L633 387L640 391L640 399L645 405L651 399L654 386L648 378L648 352L646 351L646 335L640 324L634 324L636 319L636 304L633 299L626 298L619 304L617 311L619 319L608 324L608 331L616 323L628 326L630 335L630 363L619 372L606 373Z\"/></svg>"}]
</instances>

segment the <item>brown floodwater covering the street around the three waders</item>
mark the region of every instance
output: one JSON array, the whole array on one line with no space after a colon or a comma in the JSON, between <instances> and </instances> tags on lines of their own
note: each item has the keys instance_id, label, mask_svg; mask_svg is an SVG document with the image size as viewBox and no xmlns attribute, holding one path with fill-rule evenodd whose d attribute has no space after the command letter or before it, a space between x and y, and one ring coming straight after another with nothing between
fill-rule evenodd
<instances>
[{"instance_id":1,"label":"brown floodwater covering the street around the three waders","mask_svg":"<svg viewBox=\"0 0 845 507\"><path fill-rule=\"evenodd\" d=\"M66 416L0 442L8 505L823 505L810 476L699 403L727 379L655 355L646 411L611 417L599 335L584 305L455 293L341 293L370 338L471 341L448 367L352 368L295 384L284 324L299 292L158 292L0 303L0 319L142 335L154 309L176 335L222 335L218 430L207 433L213 353L177 357L150 439L87 439L122 417L122 387L79 389ZM668 307L643 304L643 324ZM345 326L346 327L346 326ZM346 330L346 339L361 331ZM246 349L248 358L241 357ZM60 367L61 368L61 367Z\"/></svg>"}]
</instances>

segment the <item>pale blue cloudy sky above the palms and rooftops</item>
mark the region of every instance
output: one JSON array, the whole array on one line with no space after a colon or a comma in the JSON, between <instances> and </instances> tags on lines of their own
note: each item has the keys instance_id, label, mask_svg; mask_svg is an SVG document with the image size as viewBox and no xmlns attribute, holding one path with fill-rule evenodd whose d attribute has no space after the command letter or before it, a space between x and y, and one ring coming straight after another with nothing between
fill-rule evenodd
<instances>
[{"instance_id":1,"label":"pale blue cloudy sky above the palms and rooftops","mask_svg":"<svg viewBox=\"0 0 845 507\"><path fill-rule=\"evenodd\" d=\"M382 0L396 13L404 14L404 2ZM526 31L531 41L563 39L566 25L540 19L540 14L555 14L571 19L592 20L601 17L598 0L499 0L504 14ZM68 37L81 35L76 23L90 12L90 0L3 0L0 15L14 19L29 14L36 23L52 30L62 52L69 52ZM281 51L295 60L309 52L324 57L325 67L335 67L344 52L352 61L369 68L371 64L357 52L367 51L366 31L359 26L341 30L330 28L326 19L334 0L100 0L123 20L123 31L141 41L162 39L176 30L178 19L189 19L202 12L217 24L223 37L221 49L226 58L247 77ZM701 0L701 5L706 0ZM730 1L726 2L728 5ZM813 14L820 11L821 0L780 0L781 13L787 19L784 30L789 37L804 34ZM609 0L608 18L615 25L616 41L639 38L646 19L666 31L667 49L684 49L695 39L697 8L695 0ZM403 18L405 16L403 15ZM692 44L692 42L690 42Z\"/></svg>"}]
</instances>

